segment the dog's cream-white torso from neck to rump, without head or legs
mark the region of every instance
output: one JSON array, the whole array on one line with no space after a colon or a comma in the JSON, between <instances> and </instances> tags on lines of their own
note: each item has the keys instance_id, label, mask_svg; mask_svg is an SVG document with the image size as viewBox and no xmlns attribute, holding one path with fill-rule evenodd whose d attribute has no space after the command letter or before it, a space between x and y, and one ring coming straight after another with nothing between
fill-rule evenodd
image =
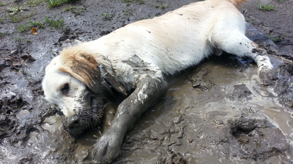
<instances>
[{"instance_id":1,"label":"dog's cream-white torso from neck to rump, without head or legs","mask_svg":"<svg viewBox=\"0 0 293 164\"><path fill-rule=\"evenodd\" d=\"M84 44L103 51L113 67L108 71L114 77L121 77L123 84L133 85L148 74L160 77L193 67L221 48L223 42L230 42L231 32L244 35L245 21L238 9L250 3L250 0L196 2ZM141 70L126 69L129 63L141 61L144 62L139 66Z\"/></svg>"}]
</instances>

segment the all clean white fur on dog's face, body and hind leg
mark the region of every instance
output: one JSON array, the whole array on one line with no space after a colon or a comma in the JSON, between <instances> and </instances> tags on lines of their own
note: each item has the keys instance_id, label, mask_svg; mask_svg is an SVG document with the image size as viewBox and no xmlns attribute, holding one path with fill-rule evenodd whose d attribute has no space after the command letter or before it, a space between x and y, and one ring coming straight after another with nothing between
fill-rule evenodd
<instances>
[{"instance_id":1,"label":"all clean white fur on dog's face, body and hind leg","mask_svg":"<svg viewBox=\"0 0 293 164\"><path fill-rule=\"evenodd\" d=\"M92 54L128 90L136 87L139 80L147 75L158 78L194 67L215 49L239 57L251 57L259 70L262 67L273 68L267 56L251 52L255 44L244 33L244 17L234 5L225 0L207 0L183 6L154 19L134 22L70 49L86 50ZM122 62L133 55L149 63L149 70L135 71ZM71 75L57 71L61 66L59 59L59 56L55 57L46 68L43 88L46 99L57 104L70 117L84 106L77 99L86 88ZM77 88L73 97L60 93L60 87L68 82L71 88Z\"/></svg>"}]
</instances>

